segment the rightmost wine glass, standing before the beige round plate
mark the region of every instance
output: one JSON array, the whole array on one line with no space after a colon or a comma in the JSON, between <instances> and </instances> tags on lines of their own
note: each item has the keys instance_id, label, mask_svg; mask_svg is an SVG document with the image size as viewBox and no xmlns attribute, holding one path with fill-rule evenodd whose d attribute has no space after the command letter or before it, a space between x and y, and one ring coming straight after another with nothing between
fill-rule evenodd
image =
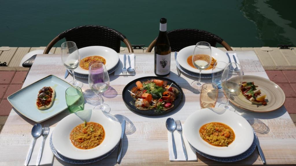
<instances>
[{"instance_id":1,"label":"rightmost wine glass, standing before the beige round plate","mask_svg":"<svg viewBox=\"0 0 296 166\"><path fill-rule=\"evenodd\" d=\"M229 97L241 87L242 76L242 66L240 64L227 64L221 77L221 85L225 94L227 94L227 102L220 104L219 108L223 107L224 109L229 109Z\"/></svg>"}]
</instances>

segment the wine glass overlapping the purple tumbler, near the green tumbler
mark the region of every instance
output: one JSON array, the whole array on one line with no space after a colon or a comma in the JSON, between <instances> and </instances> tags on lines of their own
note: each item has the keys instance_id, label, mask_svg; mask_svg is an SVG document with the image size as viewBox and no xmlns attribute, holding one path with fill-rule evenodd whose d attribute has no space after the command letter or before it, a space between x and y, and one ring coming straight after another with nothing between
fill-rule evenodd
<instances>
[{"instance_id":1,"label":"wine glass overlapping the purple tumbler, near the green tumbler","mask_svg":"<svg viewBox=\"0 0 296 166\"><path fill-rule=\"evenodd\" d=\"M102 93L104 93L110 84L110 79L106 66L102 63L92 64L89 67L89 87L97 95L100 96L101 105L97 105L94 109L110 112L111 108L107 104L103 104Z\"/></svg>"}]
</instances>

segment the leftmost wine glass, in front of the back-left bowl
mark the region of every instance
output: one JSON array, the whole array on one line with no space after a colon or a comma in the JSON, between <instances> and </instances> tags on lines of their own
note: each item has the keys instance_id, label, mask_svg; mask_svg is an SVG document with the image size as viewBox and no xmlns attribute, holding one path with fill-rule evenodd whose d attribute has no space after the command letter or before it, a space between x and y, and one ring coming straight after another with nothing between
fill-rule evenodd
<instances>
[{"instance_id":1,"label":"leftmost wine glass, in front of the back-left bowl","mask_svg":"<svg viewBox=\"0 0 296 166\"><path fill-rule=\"evenodd\" d=\"M62 43L61 58L64 66L70 69L73 74L73 81L69 82L75 87L82 87L83 83L75 80L74 69L79 66L80 56L75 42L67 41Z\"/></svg>"}]
</instances>

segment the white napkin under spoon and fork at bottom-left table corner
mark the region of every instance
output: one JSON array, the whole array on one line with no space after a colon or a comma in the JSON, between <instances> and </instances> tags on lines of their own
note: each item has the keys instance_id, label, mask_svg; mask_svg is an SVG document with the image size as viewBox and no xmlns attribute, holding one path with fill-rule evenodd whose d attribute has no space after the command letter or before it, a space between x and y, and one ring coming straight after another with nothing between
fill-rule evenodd
<instances>
[{"instance_id":1,"label":"white napkin under spoon and fork at bottom-left table corner","mask_svg":"<svg viewBox=\"0 0 296 166\"><path fill-rule=\"evenodd\" d=\"M44 147L43 147L40 165L52 165L53 164L54 154L52 153L52 150L49 147L49 137L51 136L53 130L54 130L54 127L49 128L49 134L44 140ZM29 165L36 165L42 139L43 139L43 136L40 136L36 139Z\"/></svg>"}]
</instances>

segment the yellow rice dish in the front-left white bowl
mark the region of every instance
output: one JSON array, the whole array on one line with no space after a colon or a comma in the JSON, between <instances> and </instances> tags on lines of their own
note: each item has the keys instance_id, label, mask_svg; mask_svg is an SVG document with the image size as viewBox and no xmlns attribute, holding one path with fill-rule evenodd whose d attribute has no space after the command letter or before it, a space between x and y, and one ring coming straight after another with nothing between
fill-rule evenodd
<instances>
[{"instance_id":1,"label":"yellow rice dish in the front-left white bowl","mask_svg":"<svg viewBox=\"0 0 296 166\"><path fill-rule=\"evenodd\" d=\"M76 126L70 133L72 144L79 149L91 149L105 138L105 131L102 125L95 122L86 121Z\"/></svg>"}]
</instances>

